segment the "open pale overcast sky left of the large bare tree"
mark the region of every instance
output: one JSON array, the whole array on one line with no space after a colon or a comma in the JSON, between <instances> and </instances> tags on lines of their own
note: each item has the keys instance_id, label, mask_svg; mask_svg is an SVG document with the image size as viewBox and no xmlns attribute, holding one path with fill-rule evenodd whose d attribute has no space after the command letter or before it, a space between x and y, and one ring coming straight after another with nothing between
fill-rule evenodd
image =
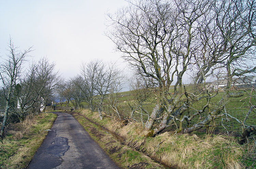
<instances>
[{"instance_id":1,"label":"open pale overcast sky left of the large bare tree","mask_svg":"<svg viewBox=\"0 0 256 169\"><path fill-rule=\"evenodd\" d=\"M55 61L65 78L79 73L82 61L123 62L103 34L105 14L127 4L124 0L0 0L0 56L5 57L11 36L20 50L33 46L33 60L47 56Z\"/></svg>"}]
</instances>

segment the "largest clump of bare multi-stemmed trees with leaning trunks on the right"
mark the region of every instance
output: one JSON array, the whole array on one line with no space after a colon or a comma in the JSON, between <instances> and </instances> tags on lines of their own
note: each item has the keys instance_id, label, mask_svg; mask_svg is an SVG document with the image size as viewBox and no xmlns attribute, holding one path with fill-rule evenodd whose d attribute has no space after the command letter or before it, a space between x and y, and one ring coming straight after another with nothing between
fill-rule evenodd
<instances>
[{"instance_id":1,"label":"largest clump of bare multi-stemmed trees with leaning trunks on the right","mask_svg":"<svg viewBox=\"0 0 256 169\"><path fill-rule=\"evenodd\" d=\"M233 95L229 92L232 77L255 71L255 2L236 2L138 0L108 15L107 36L116 49L138 74L158 87L156 107L145 123L149 135L175 121L201 118L202 113L207 115L183 132L208 126L220 117ZM192 69L196 70L194 83L203 83L201 93L182 88L184 74ZM216 71L228 79L226 92L217 103L211 101L217 94L206 86L208 77L218 77ZM169 92L172 82L174 93ZM183 115L199 101L206 104L194 114ZM156 119L159 123L153 128Z\"/></svg>"}]
</instances>

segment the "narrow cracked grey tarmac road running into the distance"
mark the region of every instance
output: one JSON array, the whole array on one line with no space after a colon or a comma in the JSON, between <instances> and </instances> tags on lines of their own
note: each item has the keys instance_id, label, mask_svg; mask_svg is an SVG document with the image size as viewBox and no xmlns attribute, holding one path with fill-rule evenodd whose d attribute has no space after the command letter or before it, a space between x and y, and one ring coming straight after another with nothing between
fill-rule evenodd
<instances>
[{"instance_id":1,"label":"narrow cracked grey tarmac road running into the distance","mask_svg":"<svg viewBox=\"0 0 256 169\"><path fill-rule=\"evenodd\" d=\"M118 169L76 119L55 112L57 118L28 169Z\"/></svg>"}]
</instances>

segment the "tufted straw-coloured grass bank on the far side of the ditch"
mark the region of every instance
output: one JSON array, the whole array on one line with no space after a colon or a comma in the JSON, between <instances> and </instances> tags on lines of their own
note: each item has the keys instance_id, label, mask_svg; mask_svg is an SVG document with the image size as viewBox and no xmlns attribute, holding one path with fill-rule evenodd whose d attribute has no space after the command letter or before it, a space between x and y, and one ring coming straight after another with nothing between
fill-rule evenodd
<instances>
[{"instance_id":1,"label":"tufted straw-coloured grass bank on the far side of the ditch","mask_svg":"<svg viewBox=\"0 0 256 169\"><path fill-rule=\"evenodd\" d=\"M172 168L239 169L247 167L252 169L256 167L254 141L240 146L236 137L200 132L193 134L165 132L154 138L146 138L140 123L131 121L124 125L122 121L116 121L109 117L99 120L97 112L90 113L87 110L81 110L78 114L125 138L123 144L127 148L136 149ZM80 119L79 121L82 123L86 120ZM93 137L95 136L95 133L90 133ZM95 139L97 140L97 138ZM99 139L98 142L101 144L102 139ZM106 145L113 148L113 144ZM104 144L102 146L104 147ZM118 154L120 153L114 153L113 156L118 156ZM123 154L122 158L124 158ZM137 163L143 161L144 159L141 159ZM124 162L127 165L130 164L129 159L125 159Z\"/></svg>"}]
</instances>

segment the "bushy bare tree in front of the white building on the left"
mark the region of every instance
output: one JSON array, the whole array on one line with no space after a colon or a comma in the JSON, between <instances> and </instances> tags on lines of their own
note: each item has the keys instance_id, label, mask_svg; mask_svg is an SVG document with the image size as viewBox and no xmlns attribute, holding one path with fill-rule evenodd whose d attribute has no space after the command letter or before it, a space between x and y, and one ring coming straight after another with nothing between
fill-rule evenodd
<instances>
[{"instance_id":1,"label":"bushy bare tree in front of the white building on the left","mask_svg":"<svg viewBox=\"0 0 256 169\"><path fill-rule=\"evenodd\" d=\"M18 107L13 108L12 113L20 120L29 113L40 112L43 106L42 99L45 104L54 94L58 85L58 72L54 71L54 67L55 63L50 63L47 58L41 58L37 63L31 64L26 76L16 85L15 96Z\"/></svg>"}]
</instances>

